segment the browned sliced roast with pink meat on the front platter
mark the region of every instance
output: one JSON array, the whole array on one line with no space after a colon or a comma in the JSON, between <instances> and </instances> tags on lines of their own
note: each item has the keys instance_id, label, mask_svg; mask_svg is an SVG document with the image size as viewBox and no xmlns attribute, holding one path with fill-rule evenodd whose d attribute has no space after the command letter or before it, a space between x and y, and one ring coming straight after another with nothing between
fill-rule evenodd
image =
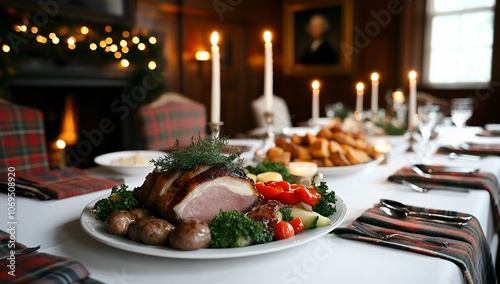
<instances>
[{"instance_id":1,"label":"browned sliced roast with pink meat on the front platter","mask_svg":"<svg viewBox=\"0 0 500 284\"><path fill-rule=\"evenodd\" d=\"M199 166L188 171L153 171L134 194L158 217L172 223L199 219L207 223L220 209L248 211L259 196L241 170Z\"/></svg>"}]
</instances>

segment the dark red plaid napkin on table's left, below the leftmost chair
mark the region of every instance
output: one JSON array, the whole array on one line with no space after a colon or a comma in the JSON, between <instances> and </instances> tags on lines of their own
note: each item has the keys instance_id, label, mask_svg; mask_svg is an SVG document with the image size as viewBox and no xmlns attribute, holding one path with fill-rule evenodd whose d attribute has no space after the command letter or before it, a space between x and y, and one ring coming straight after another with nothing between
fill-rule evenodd
<instances>
[{"instance_id":1,"label":"dark red plaid napkin on table's left, below the leftmost chair","mask_svg":"<svg viewBox=\"0 0 500 284\"><path fill-rule=\"evenodd\" d=\"M104 179L69 167L40 173L23 173L16 180L16 193L42 200L62 199L111 188L123 183L121 179ZM2 190L5 191L5 184Z\"/></svg>"}]
</instances>

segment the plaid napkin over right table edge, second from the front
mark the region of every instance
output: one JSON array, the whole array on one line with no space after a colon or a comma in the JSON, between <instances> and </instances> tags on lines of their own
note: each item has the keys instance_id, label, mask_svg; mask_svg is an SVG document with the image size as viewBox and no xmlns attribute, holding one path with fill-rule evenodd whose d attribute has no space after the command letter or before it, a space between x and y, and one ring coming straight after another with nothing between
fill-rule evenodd
<instances>
[{"instance_id":1,"label":"plaid napkin over right table edge, second from the front","mask_svg":"<svg viewBox=\"0 0 500 284\"><path fill-rule=\"evenodd\" d=\"M433 167L440 167L433 165ZM444 166L442 166L444 167ZM490 194L493 217L500 233L500 185L494 174L491 173L439 173L431 178L423 177L409 168L402 168L388 178L391 182L401 183L401 180L425 183L428 185L458 186L469 189L484 189Z\"/></svg>"}]
</instances>

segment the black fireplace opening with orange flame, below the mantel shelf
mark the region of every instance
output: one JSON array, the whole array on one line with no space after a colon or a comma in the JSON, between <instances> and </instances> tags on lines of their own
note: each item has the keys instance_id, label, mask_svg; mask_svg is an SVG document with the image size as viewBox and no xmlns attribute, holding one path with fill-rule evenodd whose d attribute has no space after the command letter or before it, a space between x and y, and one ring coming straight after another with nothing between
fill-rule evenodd
<instances>
[{"instance_id":1,"label":"black fireplace opening with orange flame, below the mantel shelf","mask_svg":"<svg viewBox=\"0 0 500 284\"><path fill-rule=\"evenodd\" d=\"M117 86L16 86L13 101L43 112L47 149L58 165L55 142L66 142L66 164L86 168L103 153L141 147L135 108L123 108L127 88ZM114 111L122 107L121 112Z\"/></svg>"}]
</instances>

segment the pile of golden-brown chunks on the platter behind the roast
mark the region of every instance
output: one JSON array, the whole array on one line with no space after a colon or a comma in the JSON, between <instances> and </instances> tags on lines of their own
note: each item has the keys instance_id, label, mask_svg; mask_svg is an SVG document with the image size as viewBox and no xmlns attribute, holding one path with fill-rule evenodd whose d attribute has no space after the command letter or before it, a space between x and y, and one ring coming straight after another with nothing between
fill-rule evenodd
<instances>
[{"instance_id":1,"label":"pile of golden-brown chunks on the platter behind the roast","mask_svg":"<svg viewBox=\"0 0 500 284\"><path fill-rule=\"evenodd\" d=\"M266 160L288 165L290 162L314 162L318 167L357 165L377 159L378 153L366 137L343 131L338 125L326 126L316 135L294 134L276 138Z\"/></svg>"}]
</instances>

